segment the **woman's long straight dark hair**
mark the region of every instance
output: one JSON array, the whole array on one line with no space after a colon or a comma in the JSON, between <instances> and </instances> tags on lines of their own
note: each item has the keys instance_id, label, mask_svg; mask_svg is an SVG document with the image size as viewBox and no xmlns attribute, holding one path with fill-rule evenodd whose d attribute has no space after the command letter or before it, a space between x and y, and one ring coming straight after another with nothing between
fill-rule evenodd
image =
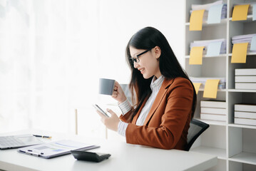
<instances>
[{"instance_id":1,"label":"woman's long straight dark hair","mask_svg":"<svg viewBox=\"0 0 256 171\"><path fill-rule=\"evenodd\" d=\"M132 115L130 115L131 121L133 120L135 114L138 113L138 110L143 104L143 101L149 98L150 94L152 93L150 89L150 83L153 76L151 78L145 79L143 78L143 75L140 73L140 71L133 67L133 61L130 59L130 46L133 46L133 48L145 50L158 46L161 50L161 55L159 58L160 73L165 78L183 77L188 79L189 81L190 79L188 78L188 75L185 73L185 71L183 71L183 68L180 66L180 63L178 62L175 54L173 53L172 48L170 48L167 39L165 38L165 36L163 36L163 33L153 27L145 27L135 33L130 38L130 41L126 46L126 61L128 62L131 70L129 88L132 94L133 104L135 105L135 108L133 108L133 113ZM190 83L193 86L193 83L191 81ZM195 93L195 88L193 86L193 112L191 115L191 119L193 118L193 115L195 113L196 101L197 96Z\"/></svg>"}]
</instances>

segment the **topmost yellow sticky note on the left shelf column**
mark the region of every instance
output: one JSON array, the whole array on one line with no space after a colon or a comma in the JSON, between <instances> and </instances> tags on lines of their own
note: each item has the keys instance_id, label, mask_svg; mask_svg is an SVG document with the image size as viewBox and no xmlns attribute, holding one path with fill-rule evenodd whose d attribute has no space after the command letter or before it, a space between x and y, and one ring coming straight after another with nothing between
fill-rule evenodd
<instances>
[{"instance_id":1,"label":"topmost yellow sticky note on the left shelf column","mask_svg":"<svg viewBox=\"0 0 256 171\"><path fill-rule=\"evenodd\" d=\"M190 15L190 31L201 31L204 9L192 11Z\"/></svg>"}]
</instances>

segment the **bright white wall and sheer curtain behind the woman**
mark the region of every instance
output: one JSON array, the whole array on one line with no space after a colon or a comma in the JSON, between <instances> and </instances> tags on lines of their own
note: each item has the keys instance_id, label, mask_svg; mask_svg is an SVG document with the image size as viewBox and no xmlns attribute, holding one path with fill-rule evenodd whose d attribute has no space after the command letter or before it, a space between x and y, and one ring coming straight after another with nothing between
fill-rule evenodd
<instances>
[{"instance_id":1,"label":"bright white wall and sheer curtain behind the woman","mask_svg":"<svg viewBox=\"0 0 256 171\"><path fill-rule=\"evenodd\" d=\"M97 96L98 78L129 82L125 48L136 31L158 28L183 64L184 5L170 0L2 0L0 132L73 132L73 108L78 107L90 110L88 123L98 124L91 103L113 100ZM92 127L83 125L84 130Z\"/></svg>"}]
</instances>

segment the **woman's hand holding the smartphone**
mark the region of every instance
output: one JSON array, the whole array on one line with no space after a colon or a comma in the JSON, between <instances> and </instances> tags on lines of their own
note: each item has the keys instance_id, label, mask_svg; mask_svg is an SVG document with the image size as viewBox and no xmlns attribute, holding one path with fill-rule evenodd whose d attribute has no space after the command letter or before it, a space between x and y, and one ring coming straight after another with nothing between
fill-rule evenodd
<instances>
[{"instance_id":1,"label":"woman's hand holding the smartphone","mask_svg":"<svg viewBox=\"0 0 256 171\"><path fill-rule=\"evenodd\" d=\"M98 113L98 115L101 116L101 122L106 125L106 127L110 130L114 130L114 131L118 131L118 123L120 122L118 116L116 115L116 113L114 113L112 110L107 109L108 113L111 113L111 117L108 118L107 116L103 115L102 113L98 112L96 110L96 112Z\"/></svg>"}]
</instances>

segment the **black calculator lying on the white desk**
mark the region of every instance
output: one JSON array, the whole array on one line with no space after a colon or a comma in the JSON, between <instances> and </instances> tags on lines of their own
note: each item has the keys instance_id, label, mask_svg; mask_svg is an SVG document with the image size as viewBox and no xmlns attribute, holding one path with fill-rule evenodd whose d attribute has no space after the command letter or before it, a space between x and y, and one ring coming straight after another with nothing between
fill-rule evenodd
<instances>
[{"instance_id":1,"label":"black calculator lying on the white desk","mask_svg":"<svg viewBox=\"0 0 256 171\"><path fill-rule=\"evenodd\" d=\"M91 162L101 162L102 160L108 159L111 157L110 154L101 153L101 152L86 152L80 150L71 150L71 154L77 160L86 160Z\"/></svg>"}]
</instances>

